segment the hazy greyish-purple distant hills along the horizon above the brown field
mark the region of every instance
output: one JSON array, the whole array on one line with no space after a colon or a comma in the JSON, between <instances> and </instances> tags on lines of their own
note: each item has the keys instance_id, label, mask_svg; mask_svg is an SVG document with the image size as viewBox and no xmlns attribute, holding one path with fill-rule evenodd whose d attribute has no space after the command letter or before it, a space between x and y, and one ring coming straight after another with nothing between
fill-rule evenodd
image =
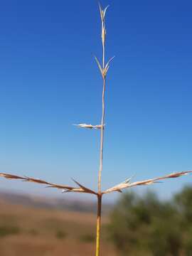
<instances>
[{"instance_id":1,"label":"hazy greyish-purple distant hills along the horizon above the brown field","mask_svg":"<svg viewBox=\"0 0 192 256\"><path fill-rule=\"evenodd\" d=\"M93 213L97 210L95 203L90 201L67 200L60 198L46 198L18 193L8 193L0 191L0 201L22 206L32 206L35 208L53 208L60 210L73 210L78 212ZM103 213L108 213L112 205L103 204Z\"/></svg>"}]
</instances>

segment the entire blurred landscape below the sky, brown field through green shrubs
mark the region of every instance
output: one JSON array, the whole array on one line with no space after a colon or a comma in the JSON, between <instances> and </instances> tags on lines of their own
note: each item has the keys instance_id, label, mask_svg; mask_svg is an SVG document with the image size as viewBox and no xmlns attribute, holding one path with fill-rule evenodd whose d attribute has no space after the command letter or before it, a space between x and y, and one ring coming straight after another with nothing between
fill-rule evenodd
<instances>
[{"instance_id":1,"label":"entire blurred landscape below the sky, brown field through green shrubs","mask_svg":"<svg viewBox=\"0 0 192 256\"><path fill-rule=\"evenodd\" d=\"M1 193L0 255L95 255L96 204ZM102 255L192 253L192 188L124 193L102 210Z\"/></svg>"}]
</instances>

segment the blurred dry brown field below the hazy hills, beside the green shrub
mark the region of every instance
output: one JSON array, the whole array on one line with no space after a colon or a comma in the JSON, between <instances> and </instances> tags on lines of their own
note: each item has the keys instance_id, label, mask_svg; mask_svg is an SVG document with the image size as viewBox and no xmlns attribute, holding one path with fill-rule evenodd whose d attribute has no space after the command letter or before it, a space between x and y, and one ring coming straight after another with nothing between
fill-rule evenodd
<instances>
[{"instance_id":1,"label":"blurred dry brown field below the hazy hills, beside the green shrub","mask_svg":"<svg viewBox=\"0 0 192 256\"><path fill-rule=\"evenodd\" d=\"M1 256L94 255L95 215L0 201ZM103 218L102 255L114 256Z\"/></svg>"}]
</instances>

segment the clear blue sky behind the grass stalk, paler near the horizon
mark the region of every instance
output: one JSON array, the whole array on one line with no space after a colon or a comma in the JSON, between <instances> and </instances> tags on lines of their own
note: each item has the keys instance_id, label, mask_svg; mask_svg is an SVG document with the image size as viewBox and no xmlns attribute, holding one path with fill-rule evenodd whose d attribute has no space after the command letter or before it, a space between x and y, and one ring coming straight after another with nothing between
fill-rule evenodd
<instances>
[{"instance_id":1,"label":"clear blue sky behind the grass stalk, paler near the horizon","mask_svg":"<svg viewBox=\"0 0 192 256\"><path fill-rule=\"evenodd\" d=\"M192 169L191 1L102 1L107 113L102 186ZM97 1L7 0L0 9L0 171L97 188L102 78ZM169 196L192 176L153 186ZM58 195L1 179L0 188ZM139 188L139 191L146 188Z\"/></svg>"}]
</instances>

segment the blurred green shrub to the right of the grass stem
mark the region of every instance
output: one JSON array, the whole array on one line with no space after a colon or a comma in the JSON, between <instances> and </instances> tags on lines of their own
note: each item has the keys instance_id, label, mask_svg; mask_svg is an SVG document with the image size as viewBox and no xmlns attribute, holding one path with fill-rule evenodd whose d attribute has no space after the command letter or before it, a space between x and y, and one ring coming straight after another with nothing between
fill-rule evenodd
<instances>
[{"instance_id":1,"label":"blurred green shrub to the right of the grass stem","mask_svg":"<svg viewBox=\"0 0 192 256\"><path fill-rule=\"evenodd\" d=\"M108 232L118 255L192 255L192 188L170 201L154 193L126 193L110 215Z\"/></svg>"}]
</instances>

